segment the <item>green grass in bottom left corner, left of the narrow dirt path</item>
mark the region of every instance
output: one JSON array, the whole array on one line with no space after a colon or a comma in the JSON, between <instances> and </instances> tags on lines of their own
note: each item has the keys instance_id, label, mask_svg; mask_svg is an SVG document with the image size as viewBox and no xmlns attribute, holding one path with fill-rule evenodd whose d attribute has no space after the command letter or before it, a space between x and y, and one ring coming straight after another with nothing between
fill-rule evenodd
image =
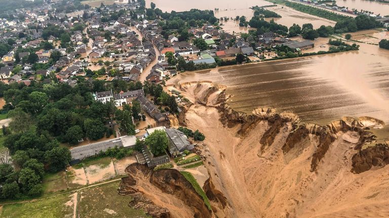
<instances>
[{"instance_id":1,"label":"green grass in bottom left corner, left of the narrow dirt path","mask_svg":"<svg viewBox=\"0 0 389 218\"><path fill-rule=\"evenodd\" d=\"M72 217L73 204L66 204L71 200L70 193L57 195L29 203L4 205L1 217L5 218L57 218Z\"/></svg>"}]
</instances>

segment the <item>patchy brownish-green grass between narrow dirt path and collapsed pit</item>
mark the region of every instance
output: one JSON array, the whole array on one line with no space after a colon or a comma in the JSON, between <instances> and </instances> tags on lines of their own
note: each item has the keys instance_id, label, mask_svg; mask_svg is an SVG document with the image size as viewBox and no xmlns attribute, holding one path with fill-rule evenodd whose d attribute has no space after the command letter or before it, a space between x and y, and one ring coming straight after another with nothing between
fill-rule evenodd
<instances>
[{"instance_id":1,"label":"patchy brownish-green grass between narrow dirt path and collapsed pit","mask_svg":"<svg viewBox=\"0 0 389 218\"><path fill-rule=\"evenodd\" d=\"M118 194L119 183L112 182L82 190L77 206L79 217L149 217L143 210L128 206L132 199Z\"/></svg>"}]
</instances>

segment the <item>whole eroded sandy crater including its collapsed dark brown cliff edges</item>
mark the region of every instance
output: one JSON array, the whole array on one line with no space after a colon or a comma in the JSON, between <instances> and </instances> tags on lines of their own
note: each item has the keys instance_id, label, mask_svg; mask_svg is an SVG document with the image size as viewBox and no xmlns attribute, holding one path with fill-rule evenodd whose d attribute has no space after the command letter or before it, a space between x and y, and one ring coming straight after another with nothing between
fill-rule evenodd
<instances>
[{"instance_id":1,"label":"whole eroded sandy crater including its collapsed dark brown cliff edges","mask_svg":"<svg viewBox=\"0 0 389 218\"><path fill-rule=\"evenodd\" d=\"M389 214L389 148L374 145L375 136L369 132L384 126L383 122L371 117L343 117L320 126L300 123L297 115L276 113L272 108L257 108L248 115L226 103L224 86L207 81L168 89L180 91L192 102L179 115L180 125L200 129L206 136L196 149L205 157L210 175L203 189L212 212L204 212L201 199L190 190L185 194L185 182L171 179L175 177L172 171L161 171L155 177L144 169L139 173L140 167L128 171L136 182L124 179L121 190L130 193L128 190L134 189L134 196L142 193L150 202L144 204L140 199L131 206L149 207L147 211L157 211L155 217ZM179 188L173 189L177 184ZM193 202L185 199L189 195Z\"/></svg>"}]
</instances>

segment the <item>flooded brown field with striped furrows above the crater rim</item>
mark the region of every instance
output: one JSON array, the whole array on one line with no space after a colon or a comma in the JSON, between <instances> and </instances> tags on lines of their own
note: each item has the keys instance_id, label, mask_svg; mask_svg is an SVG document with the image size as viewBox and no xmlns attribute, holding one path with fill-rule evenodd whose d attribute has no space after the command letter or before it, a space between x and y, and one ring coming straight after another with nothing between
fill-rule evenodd
<instances>
[{"instance_id":1,"label":"flooded brown field with striped furrows above the crater rim","mask_svg":"<svg viewBox=\"0 0 389 218\"><path fill-rule=\"evenodd\" d=\"M389 51L361 50L184 73L169 81L208 80L227 86L229 104L250 113L270 106L303 121L327 124L342 116L371 116L389 123Z\"/></svg>"}]
</instances>

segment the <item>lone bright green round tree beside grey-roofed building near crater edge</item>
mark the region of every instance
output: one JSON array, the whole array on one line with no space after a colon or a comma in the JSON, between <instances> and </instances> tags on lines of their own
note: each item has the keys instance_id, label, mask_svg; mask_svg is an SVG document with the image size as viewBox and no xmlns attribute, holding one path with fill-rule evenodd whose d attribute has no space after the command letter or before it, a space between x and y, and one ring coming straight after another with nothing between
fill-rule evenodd
<instances>
[{"instance_id":1,"label":"lone bright green round tree beside grey-roofed building near crater edge","mask_svg":"<svg viewBox=\"0 0 389 218\"><path fill-rule=\"evenodd\" d=\"M164 130L155 130L144 140L154 155L163 154L168 147L169 139Z\"/></svg>"}]
</instances>

